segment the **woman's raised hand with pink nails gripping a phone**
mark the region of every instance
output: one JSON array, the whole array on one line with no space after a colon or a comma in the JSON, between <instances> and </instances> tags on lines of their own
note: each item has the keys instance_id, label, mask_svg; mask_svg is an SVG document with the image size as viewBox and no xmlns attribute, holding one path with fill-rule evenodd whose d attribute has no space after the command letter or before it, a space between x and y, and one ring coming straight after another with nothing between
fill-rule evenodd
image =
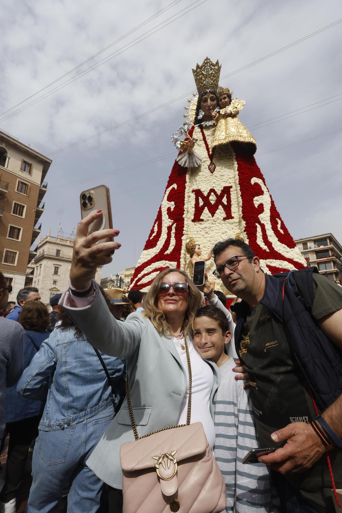
<instances>
[{"instance_id":1,"label":"woman's raised hand with pink nails gripping a phone","mask_svg":"<svg viewBox=\"0 0 342 513\"><path fill-rule=\"evenodd\" d=\"M87 235L91 223L99 219L101 215L102 210L92 212L78 224L70 269L70 282L74 289L86 290L89 288L96 269L100 265L109 264L112 261L111 255L121 246L118 242L101 242L108 237L119 235L119 230L99 230ZM96 244L97 242L99 244Z\"/></svg>"}]
</instances>

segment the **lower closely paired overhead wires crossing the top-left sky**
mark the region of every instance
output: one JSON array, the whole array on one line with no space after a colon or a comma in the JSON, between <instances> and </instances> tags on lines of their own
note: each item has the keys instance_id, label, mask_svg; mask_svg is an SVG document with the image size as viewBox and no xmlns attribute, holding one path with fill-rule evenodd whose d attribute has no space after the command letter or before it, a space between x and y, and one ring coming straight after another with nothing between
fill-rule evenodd
<instances>
[{"instance_id":1,"label":"lower closely paired overhead wires crossing the top-left sky","mask_svg":"<svg viewBox=\"0 0 342 513\"><path fill-rule=\"evenodd\" d=\"M138 43L141 43L142 41L144 41L145 39L147 39L147 37L155 34L156 32L159 32L159 30L162 30L163 28L167 27L168 25L170 25L171 23L174 23L175 21L177 21L177 19L181 18L182 16L185 16L185 14L188 14L189 12L193 11L194 9L196 9L197 7L199 7L200 5L204 4L205 2L207 2L207 0L202 0L202 2L200 2L198 4L200 0L195 0L195 2L193 4L191 4L190 6L187 6L185 7L184 9L182 9L181 11L178 11L178 13L174 14L173 16L170 16L169 18L167 18L164 22L161 22L159 23L158 25L156 25L156 27L154 27L153 29L150 29L148 30L147 32L145 32L144 34L138 36L135 40L131 41L130 43L127 43L127 45L123 46L122 48L119 48L119 50L116 50L115 52L109 54L107 57L104 57L103 59L101 59L101 61L99 61L98 63L96 64L93 64L92 66L90 66L89 68L85 69L84 71L81 71L81 73L73 78L69 78L67 81L63 82L62 84L60 84L59 86L56 86L54 89L52 89L51 91L45 93L45 94L42 94L41 96L39 96L38 98L36 98L35 100L33 100L32 102L28 103L26 106L24 107L21 107L20 109L17 109L16 111L12 112L11 114L8 114L7 116L5 115L4 117L2 117L2 119L0 119L0 122L4 122L6 120L8 120L10 117L13 117L15 116L16 114L22 112L23 110L26 110L28 109L29 107L31 107L32 105L35 105L36 103L44 100L44 98L47 98L48 96L50 96L51 94L54 94L55 92L57 91L60 91L61 89L63 89L64 87L68 86L69 84L75 82L76 80L79 80L79 78L81 78L82 76L84 75L87 75L88 73L90 73L91 71L93 71L94 69L97 69L99 68L100 66L102 66L103 64L107 63L108 61L110 61L111 59L113 59L114 57L117 57L118 55L121 55L123 52L125 52L126 50L129 50L130 48L136 46ZM189 9L189 7L193 6L194 4L198 4L198 5L195 5L195 7L192 7L191 9ZM187 9L187 10L186 10ZM186 11L186 12L183 12L183 11ZM177 16L177 14L183 12L183 14L180 14L179 16ZM175 19L171 19L173 17L177 16ZM171 21L169 21L171 20ZM168 23L166 23L168 22ZM162 27L160 25L163 25ZM159 28L158 28L159 27Z\"/></svg>"}]
</instances>

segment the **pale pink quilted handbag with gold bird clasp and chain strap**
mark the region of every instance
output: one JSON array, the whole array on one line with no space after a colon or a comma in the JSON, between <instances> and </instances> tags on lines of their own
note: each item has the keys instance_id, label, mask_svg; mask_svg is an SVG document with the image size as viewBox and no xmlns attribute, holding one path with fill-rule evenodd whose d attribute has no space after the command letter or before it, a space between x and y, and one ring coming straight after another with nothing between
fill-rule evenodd
<instances>
[{"instance_id":1,"label":"pale pink quilted handbag with gold bird clasp and chain strap","mask_svg":"<svg viewBox=\"0 0 342 513\"><path fill-rule=\"evenodd\" d=\"M139 437L127 377L127 405L135 442L120 448L123 513L218 513L225 508L225 484L202 423L190 424L192 373L185 336L184 342L189 372L186 424Z\"/></svg>"}]
</instances>

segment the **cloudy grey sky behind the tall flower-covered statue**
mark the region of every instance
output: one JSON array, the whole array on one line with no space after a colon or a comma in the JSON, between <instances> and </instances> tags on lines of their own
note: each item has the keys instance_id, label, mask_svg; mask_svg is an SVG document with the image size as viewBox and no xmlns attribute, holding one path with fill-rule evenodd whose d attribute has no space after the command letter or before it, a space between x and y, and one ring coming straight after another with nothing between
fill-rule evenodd
<instances>
[{"instance_id":1,"label":"cloudy grey sky behind the tall flower-covered statue","mask_svg":"<svg viewBox=\"0 0 342 513\"><path fill-rule=\"evenodd\" d=\"M246 101L241 121L293 237L332 232L342 243L339 0L12 0L2 20L0 129L53 160L43 235L60 223L70 233L80 192L108 185L122 248L103 277L140 256L191 68L207 55Z\"/></svg>"}]
</instances>

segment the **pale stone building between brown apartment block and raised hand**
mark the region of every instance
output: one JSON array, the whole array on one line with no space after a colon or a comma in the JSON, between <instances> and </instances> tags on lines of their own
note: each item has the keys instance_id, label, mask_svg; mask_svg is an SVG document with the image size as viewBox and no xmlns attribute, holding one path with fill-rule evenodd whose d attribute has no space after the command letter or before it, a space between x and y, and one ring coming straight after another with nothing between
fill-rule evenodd
<instances>
[{"instance_id":1,"label":"pale stone building between brown apartment block and raised hand","mask_svg":"<svg viewBox=\"0 0 342 513\"><path fill-rule=\"evenodd\" d=\"M72 259L73 237L48 235L41 238L37 247L37 254L30 264L26 286L37 287L42 302L49 304L54 294L63 292L68 287L69 273ZM98 267L95 280L101 282L101 267Z\"/></svg>"}]
</instances>

